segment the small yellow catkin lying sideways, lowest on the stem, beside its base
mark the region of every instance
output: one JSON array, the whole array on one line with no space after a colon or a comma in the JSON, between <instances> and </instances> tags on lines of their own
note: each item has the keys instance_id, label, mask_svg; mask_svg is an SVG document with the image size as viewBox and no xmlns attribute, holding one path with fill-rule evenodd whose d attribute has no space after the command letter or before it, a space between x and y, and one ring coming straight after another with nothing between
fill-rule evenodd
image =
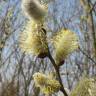
<instances>
[{"instance_id":1,"label":"small yellow catkin lying sideways, lowest on the stem, beside its base","mask_svg":"<svg viewBox=\"0 0 96 96\"><path fill-rule=\"evenodd\" d=\"M60 84L57 80L47 77L42 73L33 75L34 82L44 94L53 94L60 90Z\"/></svg>"}]
</instances>

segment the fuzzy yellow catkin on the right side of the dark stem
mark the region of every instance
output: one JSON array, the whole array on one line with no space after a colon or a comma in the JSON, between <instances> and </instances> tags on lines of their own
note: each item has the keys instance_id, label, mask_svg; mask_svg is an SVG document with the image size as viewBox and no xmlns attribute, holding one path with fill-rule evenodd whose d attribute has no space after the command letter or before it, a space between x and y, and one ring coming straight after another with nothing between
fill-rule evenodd
<instances>
[{"instance_id":1,"label":"fuzzy yellow catkin on the right side of the dark stem","mask_svg":"<svg viewBox=\"0 0 96 96\"><path fill-rule=\"evenodd\" d=\"M78 48L78 37L68 29L62 29L52 40L55 47L55 60L59 64Z\"/></svg>"}]
</instances>

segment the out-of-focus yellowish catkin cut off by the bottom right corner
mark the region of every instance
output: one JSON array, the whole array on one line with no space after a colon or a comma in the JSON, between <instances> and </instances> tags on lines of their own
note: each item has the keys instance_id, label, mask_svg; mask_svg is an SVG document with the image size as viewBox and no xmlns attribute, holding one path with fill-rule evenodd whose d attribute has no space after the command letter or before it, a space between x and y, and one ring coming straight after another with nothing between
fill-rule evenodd
<instances>
[{"instance_id":1,"label":"out-of-focus yellowish catkin cut off by the bottom right corner","mask_svg":"<svg viewBox=\"0 0 96 96\"><path fill-rule=\"evenodd\" d=\"M96 96L96 81L93 78L83 78L79 81L70 96Z\"/></svg>"}]
</instances>

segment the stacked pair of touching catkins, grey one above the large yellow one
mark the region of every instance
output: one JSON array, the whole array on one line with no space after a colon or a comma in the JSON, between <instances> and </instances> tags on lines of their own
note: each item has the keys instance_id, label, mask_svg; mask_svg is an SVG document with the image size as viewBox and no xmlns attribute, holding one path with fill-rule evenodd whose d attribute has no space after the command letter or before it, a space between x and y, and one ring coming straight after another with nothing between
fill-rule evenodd
<instances>
[{"instance_id":1,"label":"stacked pair of touching catkins, grey one above the large yellow one","mask_svg":"<svg viewBox=\"0 0 96 96\"><path fill-rule=\"evenodd\" d=\"M29 20L24 32L20 34L20 47L26 53L44 58L48 53L46 30L43 28L46 8L37 0L22 0L21 7Z\"/></svg>"}]
</instances>

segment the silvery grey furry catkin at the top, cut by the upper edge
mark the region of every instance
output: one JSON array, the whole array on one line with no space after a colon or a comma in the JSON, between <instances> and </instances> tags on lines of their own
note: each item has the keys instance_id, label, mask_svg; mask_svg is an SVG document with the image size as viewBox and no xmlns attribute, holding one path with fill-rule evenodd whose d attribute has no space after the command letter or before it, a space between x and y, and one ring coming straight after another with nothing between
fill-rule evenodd
<instances>
[{"instance_id":1,"label":"silvery grey furry catkin at the top, cut by the upper edge","mask_svg":"<svg viewBox=\"0 0 96 96\"><path fill-rule=\"evenodd\" d=\"M22 10L25 15L35 21L42 21L46 15L46 10L38 0L22 0Z\"/></svg>"}]
</instances>

